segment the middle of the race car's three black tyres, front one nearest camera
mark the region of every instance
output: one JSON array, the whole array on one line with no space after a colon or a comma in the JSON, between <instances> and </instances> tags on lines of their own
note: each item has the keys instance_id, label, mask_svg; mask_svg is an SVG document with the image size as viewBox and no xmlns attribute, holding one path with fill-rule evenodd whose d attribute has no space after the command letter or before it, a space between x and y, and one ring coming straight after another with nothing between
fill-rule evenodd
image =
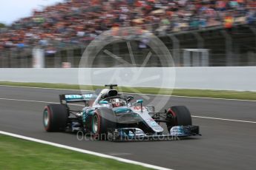
<instances>
[{"instance_id":1,"label":"middle of the race car's three black tyres, front one nearest camera","mask_svg":"<svg viewBox=\"0 0 256 170\"><path fill-rule=\"evenodd\" d=\"M108 129L116 128L116 115L112 109L96 109L91 118L91 132L98 140L107 140Z\"/></svg>"}]
</instances>

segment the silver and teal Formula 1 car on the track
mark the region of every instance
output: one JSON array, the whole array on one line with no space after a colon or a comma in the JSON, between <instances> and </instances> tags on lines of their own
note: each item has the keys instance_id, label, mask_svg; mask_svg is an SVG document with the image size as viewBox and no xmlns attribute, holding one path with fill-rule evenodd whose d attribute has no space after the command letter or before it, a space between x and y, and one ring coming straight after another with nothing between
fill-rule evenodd
<instances>
[{"instance_id":1,"label":"silver and teal Formula 1 car on the track","mask_svg":"<svg viewBox=\"0 0 256 170\"><path fill-rule=\"evenodd\" d=\"M186 106L171 106L155 112L114 89L96 89L82 95L59 95L59 104L45 106L43 124L47 132L83 132L99 140L165 140L200 135L199 126L191 125ZM70 109L69 103L83 102L81 110ZM166 126L160 126L160 123ZM165 130L164 130L165 129ZM167 129L167 130L166 130ZM166 132L167 131L167 132Z\"/></svg>"}]
</instances>

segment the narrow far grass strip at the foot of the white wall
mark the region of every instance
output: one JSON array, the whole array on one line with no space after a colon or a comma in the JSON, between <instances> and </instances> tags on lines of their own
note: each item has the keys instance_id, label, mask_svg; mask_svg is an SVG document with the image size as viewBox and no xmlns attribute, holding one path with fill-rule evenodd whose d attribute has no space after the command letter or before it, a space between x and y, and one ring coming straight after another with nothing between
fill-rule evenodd
<instances>
[{"instance_id":1,"label":"narrow far grass strip at the foot of the white wall","mask_svg":"<svg viewBox=\"0 0 256 170\"><path fill-rule=\"evenodd\" d=\"M0 81L0 85L8 86L32 86L43 88L56 88L56 89L80 89L79 85L73 84L45 84L45 83L19 83ZM81 86L82 89L94 90L103 88L103 86ZM226 99L241 99L256 101L256 92L240 92L229 90L209 90L209 89L171 89L149 88L149 87L123 87L119 86L120 92L128 93L144 93L152 95L178 95L188 97L202 97L202 98L226 98Z\"/></svg>"}]
</instances>

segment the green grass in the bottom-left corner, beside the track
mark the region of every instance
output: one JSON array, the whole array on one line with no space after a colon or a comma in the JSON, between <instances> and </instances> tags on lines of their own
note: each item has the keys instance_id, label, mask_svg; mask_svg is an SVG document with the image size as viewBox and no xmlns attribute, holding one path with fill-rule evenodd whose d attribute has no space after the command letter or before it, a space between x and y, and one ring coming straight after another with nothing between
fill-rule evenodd
<instances>
[{"instance_id":1,"label":"green grass in the bottom-left corner, beside the track","mask_svg":"<svg viewBox=\"0 0 256 170\"><path fill-rule=\"evenodd\" d=\"M6 135L0 135L0 157L0 169L147 169Z\"/></svg>"}]
</instances>

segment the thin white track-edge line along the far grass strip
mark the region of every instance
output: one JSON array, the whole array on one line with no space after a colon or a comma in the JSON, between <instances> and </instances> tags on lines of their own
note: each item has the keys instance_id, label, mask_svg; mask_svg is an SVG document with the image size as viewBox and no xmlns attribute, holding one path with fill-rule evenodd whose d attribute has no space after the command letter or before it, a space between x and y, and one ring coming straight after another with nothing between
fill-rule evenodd
<instances>
[{"instance_id":1,"label":"thin white track-edge line along the far grass strip","mask_svg":"<svg viewBox=\"0 0 256 170\"><path fill-rule=\"evenodd\" d=\"M0 86L10 86L10 85L0 85ZM47 88L47 87L36 87L36 86L10 86L10 87L16 87L16 88L30 88L30 89L58 89L58 88ZM58 89L58 90L69 90L69 91L80 91L79 89ZM82 90L83 92L92 92L92 90ZM141 95L139 93L134 92L123 92L124 94L135 94L135 95ZM146 94L143 93L142 95L151 95L156 96L153 94ZM159 95L157 95L159 96ZM193 97L193 96L183 96L183 95L160 95L165 97L175 97L175 98L201 98L201 99L211 99L211 100L224 100L224 101L251 101L256 102L252 100L246 100L246 99L235 99L235 98L206 98L206 97Z\"/></svg>"}]
</instances>

